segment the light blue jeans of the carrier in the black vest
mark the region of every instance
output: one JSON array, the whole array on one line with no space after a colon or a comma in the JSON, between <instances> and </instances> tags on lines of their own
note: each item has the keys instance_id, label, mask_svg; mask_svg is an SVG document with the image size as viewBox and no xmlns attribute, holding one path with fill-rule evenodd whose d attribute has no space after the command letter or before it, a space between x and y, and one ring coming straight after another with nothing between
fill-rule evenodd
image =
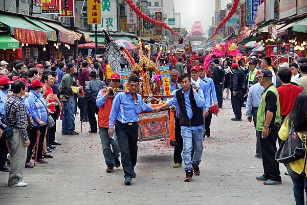
<instances>
[{"instance_id":1,"label":"light blue jeans of the carrier in the black vest","mask_svg":"<svg viewBox=\"0 0 307 205\"><path fill-rule=\"evenodd\" d=\"M192 163L198 164L202 161L203 153L203 129L190 130L182 129L181 135L183 139L183 161L185 164L185 170L192 170ZM192 149L195 149L193 155L193 161L191 160Z\"/></svg>"}]
</instances>

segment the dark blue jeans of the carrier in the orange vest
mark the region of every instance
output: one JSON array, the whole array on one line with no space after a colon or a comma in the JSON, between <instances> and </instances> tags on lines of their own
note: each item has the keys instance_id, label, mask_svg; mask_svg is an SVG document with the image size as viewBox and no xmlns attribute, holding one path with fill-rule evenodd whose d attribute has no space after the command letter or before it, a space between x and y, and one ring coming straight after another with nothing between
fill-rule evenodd
<instances>
[{"instance_id":1,"label":"dark blue jeans of the carrier in the orange vest","mask_svg":"<svg viewBox=\"0 0 307 205\"><path fill-rule=\"evenodd\" d=\"M117 140L114 140L109 137L107 130L108 128L99 127L99 134L100 134L104 161L106 165L108 164L115 165L114 159L119 157L119 152L120 152L119 145ZM110 145L112 145L112 149Z\"/></svg>"}]
</instances>

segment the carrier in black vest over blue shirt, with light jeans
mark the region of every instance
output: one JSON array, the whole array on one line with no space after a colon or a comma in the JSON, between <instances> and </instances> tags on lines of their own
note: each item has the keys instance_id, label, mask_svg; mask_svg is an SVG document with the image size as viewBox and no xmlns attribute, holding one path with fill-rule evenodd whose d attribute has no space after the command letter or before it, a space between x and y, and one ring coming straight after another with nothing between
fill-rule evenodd
<instances>
[{"instance_id":1,"label":"carrier in black vest over blue shirt, with light jeans","mask_svg":"<svg viewBox=\"0 0 307 205\"><path fill-rule=\"evenodd\" d=\"M199 164L203 153L203 107L205 104L203 90L191 86L190 74L179 76L181 89L176 95L164 105L157 107L156 111L162 108L176 105L180 108L179 121L181 135L183 138L183 161L185 163L186 177L184 181L191 181L193 172L200 175ZM195 149L193 161L191 160L192 149Z\"/></svg>"}]
</instances>

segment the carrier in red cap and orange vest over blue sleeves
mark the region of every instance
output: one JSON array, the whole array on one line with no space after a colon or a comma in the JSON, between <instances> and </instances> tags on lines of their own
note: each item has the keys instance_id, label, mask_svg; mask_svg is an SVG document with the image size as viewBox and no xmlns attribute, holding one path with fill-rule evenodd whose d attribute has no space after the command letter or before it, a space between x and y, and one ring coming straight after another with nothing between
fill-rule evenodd
<instances>
[{"instance_id":1,"label":"carrier in red cap and orange vest over blue sleeves","mask_svg":"<svg viewBox=\"0 0 307 205\"><path fill-rule=\"evenodd\" d=\"M120 161L118 159L120 152L118 141L115 138L110 138L107 133L109 127L108 119L113 102L112 99L107 99L107 96L115 96L117 92L114 92L113 89L117 88L119 85L120 75L117 73L112 74L109 87L101 89L96 100L96 105L99 107L98 125L104 161L107 166L106 172L113 172L114 166L120 167Z\"/></svg>"}]
</instances>

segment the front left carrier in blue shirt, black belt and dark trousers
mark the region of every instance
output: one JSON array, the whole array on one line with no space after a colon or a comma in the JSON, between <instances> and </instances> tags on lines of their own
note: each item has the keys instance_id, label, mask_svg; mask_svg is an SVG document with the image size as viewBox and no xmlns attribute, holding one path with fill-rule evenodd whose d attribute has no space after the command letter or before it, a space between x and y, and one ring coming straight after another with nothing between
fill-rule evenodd
<instances>
[{"instance_id":1,"label":"front left carrier in blue shirt, black belt and dark trousers","mask_svg":"<svg viewBox=\"0 0 307 205\"><path fill-rule=\"evenodd\" d=\"M139 77L130 76L128 80L129 93L119 93L116 95L109 116L108 135L111 137L114 134L116 120L115 131L120 147L122 167L125 173L125 185L130 185L131 178L136 177L134 167L137 164L138 154L139 114L141 111L154 111L137 94L139 83Z\"/></svg>"}]
</instances>

